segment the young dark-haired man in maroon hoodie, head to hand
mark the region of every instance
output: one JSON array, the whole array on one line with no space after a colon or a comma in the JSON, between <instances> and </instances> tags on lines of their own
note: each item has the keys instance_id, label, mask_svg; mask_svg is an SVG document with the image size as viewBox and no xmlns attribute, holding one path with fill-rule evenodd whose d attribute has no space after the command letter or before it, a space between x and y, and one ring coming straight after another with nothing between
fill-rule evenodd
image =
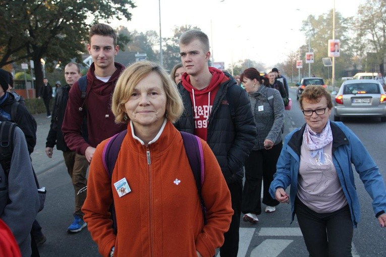
<instances>
[{"instance_id":1,"label":"young dark-haired man in maroon hoodie, head to hand","mask_svg":"<svg viewBox=\"0 0 386 257\"><path fill-rule=\"evenodd\" d=\"M87 90L81 97L78 82L69 92L62 131L71 151L84 155L91 162L96 146L104 139L126 129L114 121L111 98L119 75L125 69L114 62L118 54L117 35L113 28L105 24L95 24L90 29L89 54L94 61L87 72ZM83 127L86 120L87 131ZM84 139L87 133L88 140Z\"/></svg>"}]
</instances>

